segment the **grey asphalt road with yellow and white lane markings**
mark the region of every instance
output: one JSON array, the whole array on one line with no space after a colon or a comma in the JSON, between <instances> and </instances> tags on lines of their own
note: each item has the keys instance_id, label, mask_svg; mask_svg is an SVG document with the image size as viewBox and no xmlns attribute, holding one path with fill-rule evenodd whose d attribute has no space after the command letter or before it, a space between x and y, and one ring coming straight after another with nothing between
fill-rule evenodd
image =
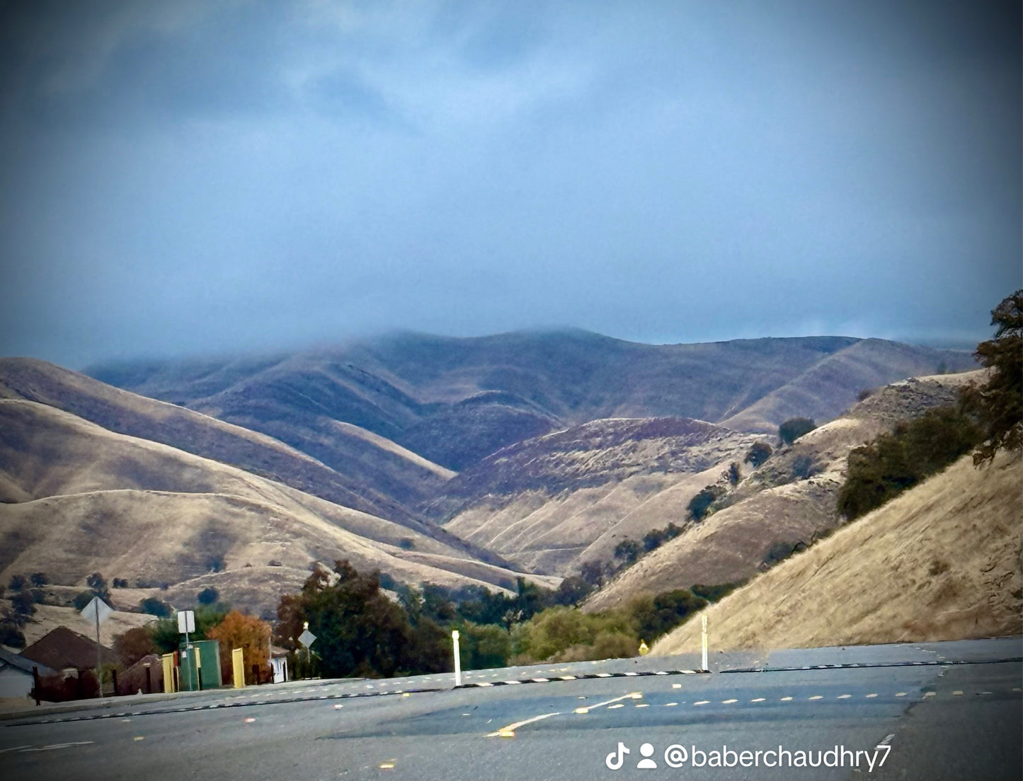
<instances>
[{"instance_id":1,"label":"grey asphalt road with yellow and white lane markings","mask_svg":"<svg viewBox=\"0 0 1023 781\"><path fill-rule=\"evenodd\" d=\"M1018 780L1021 647L722 654L696 675L653 675L692 669L692 657L646 657L482 671L465 680L489 685L459 689L419 676L122 698L0 722L0 767L11 781ZM813 667L829 664L855 667ZM656 767L637 767L644 759ZM730 767L712 767L718 759Z\"/></svg>"}]
</instances>

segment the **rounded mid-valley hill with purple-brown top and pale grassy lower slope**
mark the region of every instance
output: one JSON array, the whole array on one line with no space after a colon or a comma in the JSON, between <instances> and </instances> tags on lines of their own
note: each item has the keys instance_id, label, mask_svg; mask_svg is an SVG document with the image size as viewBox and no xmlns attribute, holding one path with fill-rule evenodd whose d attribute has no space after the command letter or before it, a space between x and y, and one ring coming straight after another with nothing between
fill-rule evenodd
<instances>
[{"instance_id":1,"label":"rounded mid-valley hill with purple-brown top and pale grassy lower slope","mask_svg":"<svg viewBox=\"0 0 1023 781\"><path fill-rule=\"evenodd\" d=\"M530 568L568 575L610 558L626 537L680 522L693 495L752 442L684 418L574 426L499 451L452 479L444 502L462 506L445 529Z\"/></svg>"}]
</instances>

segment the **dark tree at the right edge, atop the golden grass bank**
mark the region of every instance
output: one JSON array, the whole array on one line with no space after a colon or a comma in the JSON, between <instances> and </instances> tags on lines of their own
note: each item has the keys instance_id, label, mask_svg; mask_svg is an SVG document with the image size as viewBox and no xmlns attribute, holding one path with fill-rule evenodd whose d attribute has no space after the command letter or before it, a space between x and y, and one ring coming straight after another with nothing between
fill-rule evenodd
<instances>
[{"instance_id":1,"label":"dark tree at the right edge, atop the golden grass bank","mask_svg":"<svg viewBox=\"0 0 1023 781\"><path fill-rule=\"evenodd\" d=\"M978 466L999 449L1023 448L1023 289L1007 296L991 311L994 338L974 353L989 369L984 383L970 383L960 396L963 408L976 416L983 442L974 453Z\"/></svg>"}]
</instances>

